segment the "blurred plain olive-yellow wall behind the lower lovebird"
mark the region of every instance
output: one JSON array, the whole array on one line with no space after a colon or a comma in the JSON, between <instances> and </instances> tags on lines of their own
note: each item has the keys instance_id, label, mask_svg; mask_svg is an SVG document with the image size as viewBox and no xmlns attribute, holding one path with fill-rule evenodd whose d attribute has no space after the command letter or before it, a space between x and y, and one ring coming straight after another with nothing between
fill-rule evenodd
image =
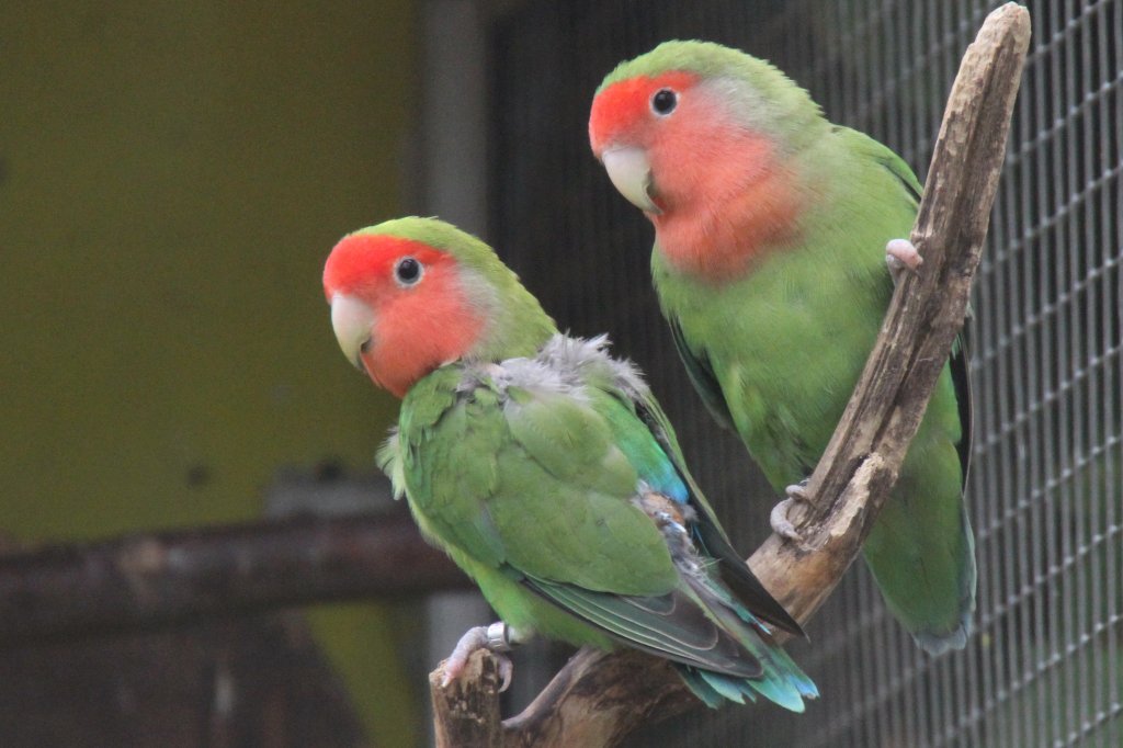
<instances>
[{"instance_id":1,"label":"blurred plain olive-yellow wall behind the lower lovebird","mask_svg":"<svg viewBox=\"0 0 1123 748\"><path fill-rule=\"evenodd\" d=\"M401 212L414 36L410 0L0 3L0 532L247 519L279 466L372 468L396 405L319 279ZM345 675L401 745L386 619L318 619L384 664Z\"/></svg>"}]
</instances>

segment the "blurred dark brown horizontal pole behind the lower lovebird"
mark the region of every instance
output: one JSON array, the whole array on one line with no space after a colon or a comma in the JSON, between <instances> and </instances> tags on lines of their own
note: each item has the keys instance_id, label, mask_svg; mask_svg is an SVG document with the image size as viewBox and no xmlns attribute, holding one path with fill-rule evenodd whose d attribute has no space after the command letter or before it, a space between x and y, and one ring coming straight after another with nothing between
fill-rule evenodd
<instances>
[{"instance_id":1,"label":"blurred dark brown horizontal pole behind the lower lovebird","mask_svg":"<svg viewBox=\"0 0 1123 748\"><path fill-rule=\"evenodd\" d=\"M404 509L141 535L0 556L0 647L467 586Z\"/></svg>"}]
</instances>

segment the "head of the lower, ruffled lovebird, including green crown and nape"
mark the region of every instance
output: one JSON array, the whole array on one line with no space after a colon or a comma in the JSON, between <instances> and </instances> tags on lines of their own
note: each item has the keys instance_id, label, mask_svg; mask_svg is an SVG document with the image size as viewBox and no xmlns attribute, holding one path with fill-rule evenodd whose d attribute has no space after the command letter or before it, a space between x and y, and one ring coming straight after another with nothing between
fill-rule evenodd
<instances>
[{"instance_id":1,"label":"head of the lower, ruffled lovebird, including green crown and nape","mask_svg":"<svg viewBox=\"0 0 1123 748\"><path fill-rule=\"evenodd\" d=\"M323 293L344 355L399 398L444 364L529 355L553 331L487 245L431 218L344 237Z\"/></svg>"}]
</instances>

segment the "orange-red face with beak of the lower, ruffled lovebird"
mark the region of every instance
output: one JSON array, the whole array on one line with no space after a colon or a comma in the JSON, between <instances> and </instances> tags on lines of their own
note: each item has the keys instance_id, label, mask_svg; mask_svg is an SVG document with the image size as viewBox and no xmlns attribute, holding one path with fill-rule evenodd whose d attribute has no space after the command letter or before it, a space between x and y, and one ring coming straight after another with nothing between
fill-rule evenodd
<instances>
[{"instance_id":1,"label":"orange-red face with beak of the lower, ruffled lovebird","mask_svg":"<svg viewBox=\"0 0 1123 748\"><path fill-rule=\"evenodd\" d=\"M401 237L344 238L323 267L323 293L344 353L399 398L483 328L456 258Z\"/></svg>"}]
</instances>

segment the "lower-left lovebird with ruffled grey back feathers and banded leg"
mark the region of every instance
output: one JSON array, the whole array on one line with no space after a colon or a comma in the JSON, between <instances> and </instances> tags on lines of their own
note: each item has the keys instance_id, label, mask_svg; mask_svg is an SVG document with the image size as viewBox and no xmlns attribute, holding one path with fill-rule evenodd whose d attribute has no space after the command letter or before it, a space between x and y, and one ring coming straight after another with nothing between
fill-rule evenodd
<instances>
[{"instance_id":1,"label":"lower-left lovebird with ruffled grey back feathers and banded leg","mask_svg":"<svg viewBox=\"0 0 1123 748\"><path fill-rule=\"evenodd\" d=\"M603 337L559 334L487 245L436 219L345 237L323 291L347 358L402 398L381 466L503 619L465 635L446 682L474 649L538 632L664 657L711 706L760 694L798 712L818 695L773 638L798 624Z\"/></svg>"}]
</instances>

